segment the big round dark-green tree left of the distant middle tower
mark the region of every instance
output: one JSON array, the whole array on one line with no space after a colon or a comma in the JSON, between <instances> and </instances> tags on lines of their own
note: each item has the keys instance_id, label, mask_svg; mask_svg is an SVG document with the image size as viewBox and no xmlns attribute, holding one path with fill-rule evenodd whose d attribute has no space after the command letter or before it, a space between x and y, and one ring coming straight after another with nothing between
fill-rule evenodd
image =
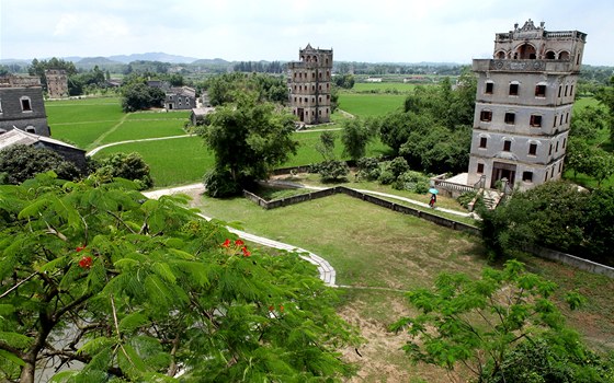
<instances>
[{"instance_id":1,"label":"big round dark-green tree left of the distant middle tower","mask_svg":"<svg viewBox=\"0 0 614 383\"><path fill-rule=\"evenodd\" d=\"M201 130L215 154L215 172L237 185L266 178L271 169L296 154L293 132L294 117L257 102L254 93L243 94L236 105L218 107ZM207 193L214 193L209 187Z\"/></svg>"}]
</instances>

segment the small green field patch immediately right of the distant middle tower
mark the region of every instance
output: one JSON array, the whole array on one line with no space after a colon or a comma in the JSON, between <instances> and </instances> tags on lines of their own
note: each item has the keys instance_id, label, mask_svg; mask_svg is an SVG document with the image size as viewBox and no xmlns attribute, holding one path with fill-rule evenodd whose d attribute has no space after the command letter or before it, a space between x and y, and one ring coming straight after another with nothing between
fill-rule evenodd
<instances>
[{"instance_id":1,"label":"small green field patch immediately right of the distant middle tower","mask_svg":"<svg viewBox=\"0 0 614 383\"><path fill-rule=\"evenodd\" d=\"M339 93L339 108L359 117L377 117L402 109L403 94Z\"/></svg>"}]
</instances>

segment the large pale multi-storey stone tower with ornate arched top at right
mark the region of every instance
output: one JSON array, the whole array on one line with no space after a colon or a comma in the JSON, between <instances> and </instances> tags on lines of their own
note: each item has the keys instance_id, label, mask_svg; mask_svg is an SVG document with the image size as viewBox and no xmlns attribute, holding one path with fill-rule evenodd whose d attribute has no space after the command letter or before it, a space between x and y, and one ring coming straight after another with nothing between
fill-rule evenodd
<instances>
[{"instance_id":1,"label":"large pale multi-storey stone tower with ornate arched top at right","mask_svg":"<svg viewBox=\"0 0 614 383\"><path fill-rule=\"evenodd\" d=\"M544 22L497 33L478 74L468 184L528 189L559 179L587 34Z\"/></svg>"}]
</instances>

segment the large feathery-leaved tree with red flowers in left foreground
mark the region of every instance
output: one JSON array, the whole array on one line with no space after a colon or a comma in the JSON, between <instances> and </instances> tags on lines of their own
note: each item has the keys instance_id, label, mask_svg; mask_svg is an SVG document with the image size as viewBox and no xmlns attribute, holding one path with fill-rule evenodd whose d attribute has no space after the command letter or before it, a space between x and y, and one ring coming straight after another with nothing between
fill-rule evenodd
<instances>
[{"instance_id":1,"label":"large feathery-leaved tree with red flowers in left foreground","mask_svg":"<svg viewBox=\"0 0 614 383\"><path fill-rule=\"evenodd\" d=\"M296 254L127 183L0 186L0 380L329 381L356 338ZM83 367L73 364L83 363Z\"/></svg>"}]
</instances>

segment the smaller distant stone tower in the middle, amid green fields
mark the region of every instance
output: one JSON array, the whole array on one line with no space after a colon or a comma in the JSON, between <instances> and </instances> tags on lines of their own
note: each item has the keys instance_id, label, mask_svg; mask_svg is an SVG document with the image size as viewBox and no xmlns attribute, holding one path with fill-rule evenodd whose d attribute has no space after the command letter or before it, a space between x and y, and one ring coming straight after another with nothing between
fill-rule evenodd
<instances>
[{"instance_id":1,"label":"smaller distant stone tower in the middle, amid green fields","mask_svg":"<svg viewBox=\"0 0 614 383\"><path fill-rule=\"evenodd\" d=\"M300 61L287 67L293 114L305 124L329 123L332 49L314 49L307 44L299 56Z\"/></svg>"}]
</instances>

